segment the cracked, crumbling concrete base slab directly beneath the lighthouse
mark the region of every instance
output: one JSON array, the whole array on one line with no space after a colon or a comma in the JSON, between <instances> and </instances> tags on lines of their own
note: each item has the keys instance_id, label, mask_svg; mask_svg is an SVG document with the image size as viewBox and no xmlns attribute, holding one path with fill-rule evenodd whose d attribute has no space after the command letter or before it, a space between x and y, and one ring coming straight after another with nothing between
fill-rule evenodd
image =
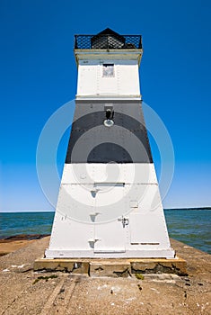
<instances>
[{"instance_id":1,"label":"cracked, crumbling concrete base slab directly beneath the lighthouse","mask_svg":"<svg viewBox=\"0 0 211 315\"><path fill-rule=\"evenodd\" d=\"M130 258L130 259L49 259L40 258L34 262L34 271L63 271L92 277L127 277L137 274L188 275L187 263L180 257Z\"/></svg>"}]
</instances>

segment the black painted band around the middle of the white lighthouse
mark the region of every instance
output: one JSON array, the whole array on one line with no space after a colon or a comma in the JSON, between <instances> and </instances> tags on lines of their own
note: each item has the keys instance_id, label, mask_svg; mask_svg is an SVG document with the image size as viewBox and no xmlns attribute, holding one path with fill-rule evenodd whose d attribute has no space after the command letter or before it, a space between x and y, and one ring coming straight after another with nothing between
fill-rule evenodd
<instances>
[{"instance_id":1,"label":"black painted band around the middle of the white lighthouse","mask_svg":"<svg viewBox=\"0 0 211 315\"><path fill-rule=\"evenodd\" d=\"M140 101L76 101L66 163L110 162L153 163Z\"/></svg>"}]
</instances>

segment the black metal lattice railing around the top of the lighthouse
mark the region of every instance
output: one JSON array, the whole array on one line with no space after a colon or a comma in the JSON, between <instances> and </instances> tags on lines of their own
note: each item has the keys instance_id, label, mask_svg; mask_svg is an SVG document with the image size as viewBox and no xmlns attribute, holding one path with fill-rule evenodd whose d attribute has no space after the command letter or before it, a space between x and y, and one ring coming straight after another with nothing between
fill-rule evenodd
<instances>
[{"instance_id":1,"label":"black metal lattice railing around the top of the lighthouse","mask_svg":"<svg viewBox=\"0 0 211 315\"><path fill-rule=\"evenodd\" d=\"M75 35L75 49L142 49L141 35Z\"/></svg>"}]
</instances>

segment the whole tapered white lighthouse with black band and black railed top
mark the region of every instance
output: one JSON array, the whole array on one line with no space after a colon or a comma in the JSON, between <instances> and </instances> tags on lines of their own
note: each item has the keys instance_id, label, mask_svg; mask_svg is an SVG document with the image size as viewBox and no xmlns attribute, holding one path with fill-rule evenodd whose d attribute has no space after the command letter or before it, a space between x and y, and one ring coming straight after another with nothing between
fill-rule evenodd
<instances>
[{"instance_id":1,"label":"whole tapered white lighthouse with black band and black railed top","mask_svg":"<svg viewBox=\"0 0 211 315\"><path fill-rule=\"evenodd\" d=\"M174 257L138 68L141 36L75 36L75 118L47 258Z\"/></svg>"}]
</instances>

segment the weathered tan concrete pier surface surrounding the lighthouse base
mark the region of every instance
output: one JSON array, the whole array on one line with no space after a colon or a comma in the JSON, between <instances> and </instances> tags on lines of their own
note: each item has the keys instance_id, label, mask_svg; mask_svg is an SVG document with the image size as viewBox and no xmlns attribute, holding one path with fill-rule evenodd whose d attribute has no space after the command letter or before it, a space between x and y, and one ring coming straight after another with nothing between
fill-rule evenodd
<instances>
[{"instance_id":1,"label":"weathered tan concrete pier surface surrounding the lighthouse base","mask_svg":"<svg viewBox=\"0 0 211 315\"><path fill-rule=\"evenodd\" d=\"M0 314L211 314L211 256L171 239L189 275L89 277L33 271L49 238L0 257Z\"/></svg>"}]
</instances>

